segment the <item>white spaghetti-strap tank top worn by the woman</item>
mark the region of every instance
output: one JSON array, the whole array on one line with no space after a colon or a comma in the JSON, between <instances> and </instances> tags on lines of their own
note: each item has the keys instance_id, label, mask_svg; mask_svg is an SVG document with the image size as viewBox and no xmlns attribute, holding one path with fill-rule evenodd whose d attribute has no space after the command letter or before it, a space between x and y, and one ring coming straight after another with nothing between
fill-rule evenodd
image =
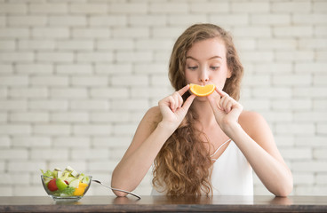
<instances>
[{"instance_id":1,"label":"white spaghetti-strap tank top worn by the woman","mask_svg":"<svg viewBox=\"0 0 327 213\"><path fill-rule=\"evenodd\" d=\"M213 160L215 162L211 174L212 193L213 195L253 195L251 165L234 141L227 140L224 144L229 141L225 151L217 160ZM152 188L151 195L163 195L163 193Z\"/></svg>"}]
</instances>

